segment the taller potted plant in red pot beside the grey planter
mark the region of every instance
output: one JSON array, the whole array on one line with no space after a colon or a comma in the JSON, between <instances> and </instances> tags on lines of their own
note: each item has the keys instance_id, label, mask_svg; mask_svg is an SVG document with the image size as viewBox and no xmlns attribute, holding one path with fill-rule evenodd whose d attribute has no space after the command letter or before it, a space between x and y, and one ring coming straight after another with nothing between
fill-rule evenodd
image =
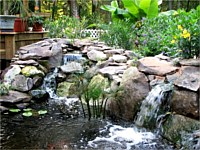
<instances>
[{"instance_id":1,"label":"taller potted plant in red pot beside the grey planter","mask_svg":"<svg viewBox=\"0 0 200 150\"><path fill-rule=\"evenodd\" d=\"M15 32L24 32L27 29L28 9L23 4L22 0L14 0L10 6L11 14L17 16L14 23Z\"/></svg>"}]
</instances>

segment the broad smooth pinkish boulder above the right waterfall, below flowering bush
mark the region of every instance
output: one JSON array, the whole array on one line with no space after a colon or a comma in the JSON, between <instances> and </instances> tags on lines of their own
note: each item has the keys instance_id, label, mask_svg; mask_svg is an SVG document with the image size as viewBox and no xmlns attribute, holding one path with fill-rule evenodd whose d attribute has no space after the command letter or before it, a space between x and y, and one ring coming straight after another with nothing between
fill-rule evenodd
<instances>
[{"instance_id":1,"label":"broad smooth pinkish boulder above the right waterfall, below flowering bush","mask_svg":"<svg viewBox=\"0 0 200 150\"><path fill-rule=\"evenodd\" d=\"M144 57L138 61L137 67L141 72L159 76L171 74L178 70L172 63L166 60L160 60L157 57Z\"/></svg>"}]
</instances>

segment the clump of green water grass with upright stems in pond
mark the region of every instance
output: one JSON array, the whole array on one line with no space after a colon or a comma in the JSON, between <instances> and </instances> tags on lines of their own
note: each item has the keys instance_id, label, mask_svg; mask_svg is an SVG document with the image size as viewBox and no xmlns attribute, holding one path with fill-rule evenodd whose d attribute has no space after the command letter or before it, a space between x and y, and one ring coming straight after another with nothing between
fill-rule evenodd
<instances>
[{"instance_id":1,"label":"clump of green water grass with upright stems in pond","mask_svg":"<svg viewBox=\"0 0 200 150\"><path fill-rule=\"evenodd\" d=\"M86 103L88 118L105 117L105 106L107 102L106 88L108 88L108 80L101 75L93 78L88 77L87 73L76 74L77 77L77 95L81 101L82 109L85 114L83 103ZM85 115L86 116L86 115Z\"/></svg>"}]
</instances>

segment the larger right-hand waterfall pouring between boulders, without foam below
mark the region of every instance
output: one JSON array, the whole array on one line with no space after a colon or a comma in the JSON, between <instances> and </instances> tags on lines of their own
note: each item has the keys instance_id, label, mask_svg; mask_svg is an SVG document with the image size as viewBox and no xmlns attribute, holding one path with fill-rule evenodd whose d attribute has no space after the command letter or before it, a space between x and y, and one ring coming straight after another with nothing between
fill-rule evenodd
<instances>
[{"instance_id":1,"label":"larger right-hand waterfall pouring between boulders, without foam below","mask_svg":"<svg viewBox=\"0 0 200 150\"><path fill-rule=\"evenodd\" d=\"M149 128L156 127L160 115L169 110L172 89L171 83L156 85L142 102L135 124Z\"/></svg>"}]
</instances>

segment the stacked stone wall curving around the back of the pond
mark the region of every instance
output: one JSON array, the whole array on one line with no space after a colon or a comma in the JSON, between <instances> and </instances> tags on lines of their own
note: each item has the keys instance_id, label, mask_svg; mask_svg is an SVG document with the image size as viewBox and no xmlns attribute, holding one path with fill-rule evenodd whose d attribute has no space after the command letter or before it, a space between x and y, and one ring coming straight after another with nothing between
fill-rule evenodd
<instances>
[{"instance_id":1,"label":"stacked stone wall curving around the back of the pond","mask_svg":"<svg viewBox=\"0 0 200 150\"><path fill-rule=\"evenodd\" d=\"M177 62L163 55L140 58L133 51L87 39L45 39L21 47L11 66L1 74L2 81L13 88L8 95L1 96L1 111L7 110L8 104L26 107L28 101L34 98L32 91L41 86L44 76L52 68L58 67L61 81L66 80L70 73L81 72L82 62L63 64L63 56L69 54L72 56L67 57L72 60L74 54L81 54L88 61L87 67L84 66L88 75L101 74L111 81L115 96L107 103L110 116L133 120L141 101L153 86L173 82L172 111L199 119L199 59ZM20 95L17 101L16 95Z\"/></svg>"}]
</instances>

